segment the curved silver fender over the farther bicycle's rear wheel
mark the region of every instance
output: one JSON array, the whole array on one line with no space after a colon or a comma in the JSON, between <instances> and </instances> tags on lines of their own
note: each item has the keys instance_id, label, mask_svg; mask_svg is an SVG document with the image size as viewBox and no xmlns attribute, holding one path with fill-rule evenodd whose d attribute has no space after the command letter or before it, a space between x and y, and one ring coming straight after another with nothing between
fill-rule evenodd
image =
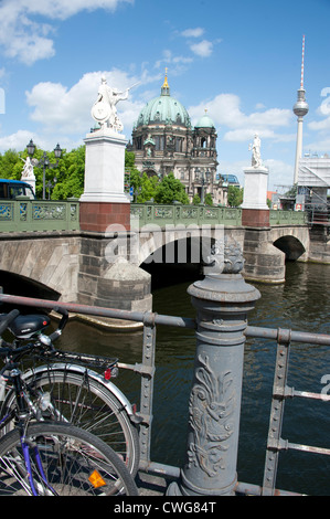
<instances>
[{"instance_id":1,"label":"curved silver fender over the farther bicycle's rear wheel","mask_svg":"<svg viewBox=\"0 0 330 519\"><path fill-rule=\"evenodd\" d=\"M29 377L33 377L35 373L42 373L42 372L47 372L52 369L52 367L56 368L56 369L65 369L65 370L70 370L70 371L73 371L75 373L79 373L79 374L84 374L86 372L86 368L84 368L83 366L78 366L78 364L64 364L64 363L55 363L55 364L51 364L50 366L39 366L36 368L33 368L32 369L29 369L28 371L25 371L23 374L22 374L22 378L25 380L25 379L29 379ZM88 377L91 377L91 379L95 380L96 382L98 382L100 385L103 385L104 388L106 388L107 391L109 391L110 393L113 393L117 400L119 400L119 402L121 403L123 407L126 410L127 414L129 415L129 417L131 419L132 422L136 422L136 415L132 411L132 406L129 402L129 400L125 396L125 394L117 388L117 385L115 385L113 382L110 382L109 380L105 380L99 373L97 373L96 371L93 371L93 370L87 370L87 373L88 373Z\"/></svg>"}]
</instances>

